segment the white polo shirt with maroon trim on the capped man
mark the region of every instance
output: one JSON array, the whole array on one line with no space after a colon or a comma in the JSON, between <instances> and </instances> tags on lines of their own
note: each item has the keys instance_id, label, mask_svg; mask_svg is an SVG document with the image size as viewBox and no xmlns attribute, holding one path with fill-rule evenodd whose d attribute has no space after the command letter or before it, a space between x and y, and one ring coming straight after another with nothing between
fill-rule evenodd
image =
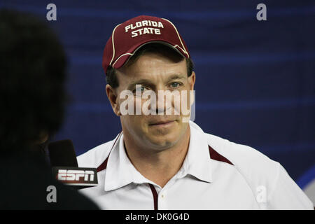
<instances>
[{"instance_id":1,"label":"white polo shirt with maroon trim on the capped man","mask_svg":"<svg viewBox=\"0 0 315 224\"><path fill-rule=\"evenodd\" d=\"M123 137L78 156L79 167L97 167L99 185L80 192L101 209L314 209L279 162L193 122L183 166L163 188L134 168Z\"/></svg>"}]
</instances>

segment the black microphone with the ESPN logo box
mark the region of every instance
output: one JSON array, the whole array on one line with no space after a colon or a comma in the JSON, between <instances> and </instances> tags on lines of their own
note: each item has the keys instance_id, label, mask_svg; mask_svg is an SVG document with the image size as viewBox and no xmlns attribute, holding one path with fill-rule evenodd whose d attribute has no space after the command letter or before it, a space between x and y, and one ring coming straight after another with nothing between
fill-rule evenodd
<instances>
[{"instance_id":1,"label":"black microphone with the ESPN logo box","mask_svg":"<svg viewBox=\"0 0 315 224\"><path fill-rule=\"evenodd\" d=\"M52 174L57 181L76 189L97 186L97 169L78 167L76 152L69 139L48 144Z\"/></svg>"}]
</instances>

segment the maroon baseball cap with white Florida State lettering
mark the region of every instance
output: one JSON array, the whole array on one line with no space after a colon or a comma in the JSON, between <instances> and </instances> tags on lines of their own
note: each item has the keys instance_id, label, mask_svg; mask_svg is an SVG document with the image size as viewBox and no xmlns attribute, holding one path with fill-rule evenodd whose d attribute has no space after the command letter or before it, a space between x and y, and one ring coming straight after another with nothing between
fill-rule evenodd
<instances>
[{"instance_id":1,"label":"maroon baseball cap with white Florida State lettering","mask_svg":"<svg viewBox=\"0 0 315 224\"><path fill-rule=\"evenodd\" d=\"M183 57L190 57L186 43L172 22L154 16L139 15L113 29L104 49L102 65L105 73L109 66L114 69L122 67L134 52L147 43L162 43Z\"/></svg>"}]
</instances>

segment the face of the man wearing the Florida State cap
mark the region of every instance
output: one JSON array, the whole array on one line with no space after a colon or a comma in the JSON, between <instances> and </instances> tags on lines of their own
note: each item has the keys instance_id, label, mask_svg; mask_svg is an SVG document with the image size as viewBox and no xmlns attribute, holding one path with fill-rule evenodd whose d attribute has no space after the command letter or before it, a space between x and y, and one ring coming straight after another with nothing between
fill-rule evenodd
<instances>
[{"instance_id":1,"label":"face of the man wearing the Florida State cap","mask_svg":"<svg viewBox=\"0 0 315 224\"><path fill-rule=\"evenodd\" d=\"M141 111L141 115L128 114L120 116L124 135L131 137L139 146L154 148L157 151L172 147L185 137L184 134L189 131L189 123L187 120L183 122L183 117L187 118L188 116L184 116L181 111L174 108L176 100L181 101L182 104L183 99L172 97L171 104L167 106L165 103L167 98L159 97L158 92L159 90L169 90L170 92L176 92L175 90L182 92L182 90L186 90L186 96L189 96L189 92L193 90L195 84L195 73L193 72L188 77L186 59L178 62L158 53L147 52L141 55L130 66L118 69L116 75L118 76L119 86L113 91L116 92L117 96L116 109L119 110L118 115L121 112L120 105L125 101L125 98L120 99L120 93L123 90L133 92L134 108L139 106L139 101L136 100L137 97L142 96L142 94L139 95L139 92L151 90L156 94L155 107L157 110L153 110L156 111L156 115L152 115L152 113L144 115L144 111ZM136 89L136 85L141 85L141 88ZM148 99L141 99L141 104L143 105ZM164 104L162 104L162 100L164 100ZM189 108L189 98L185 105L188 105ZM152 108L154 106L148 106L149 110ZM172 114L166 115L169 109L172 110ZM175 111L179 113L176 115ZM159 115L158 113L164 114Z\"/></svg>"}]
</instances>

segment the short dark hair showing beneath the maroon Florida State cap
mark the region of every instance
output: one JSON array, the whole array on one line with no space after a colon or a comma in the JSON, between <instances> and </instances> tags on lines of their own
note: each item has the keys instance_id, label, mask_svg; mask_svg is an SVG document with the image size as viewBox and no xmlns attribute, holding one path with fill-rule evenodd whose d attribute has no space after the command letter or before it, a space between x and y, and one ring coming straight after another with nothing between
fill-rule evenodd
<instances>
[{"instance_id":1,"label":"short dark hair showing beneath the maroon Florida State cap","mask_svg":"<svg viewBox=\"0 0 315 224\"><path fill-rule=\"evenodd\" d=\"M159 52L162 55L167 55L167 57L172 57L176 61L181 61L183 59L183 56L179 54L179 52L176 52L176 50L172 50L167 45L164 45L162 43L148 43L141 47L137 52L130 57L127 64L124 66L129 66L130 64L134 63L141 55L144 55L146 52ZM191 76L193 73L193 61L189 58L186 58L186 66L187 66L187 76ZM116 76L116 69L114 69L112 66L109 66L106 72L106 82L107 84L111 85L111 87L116 88L118 87L118 78Z\"/></svg>"}]
</instances>

